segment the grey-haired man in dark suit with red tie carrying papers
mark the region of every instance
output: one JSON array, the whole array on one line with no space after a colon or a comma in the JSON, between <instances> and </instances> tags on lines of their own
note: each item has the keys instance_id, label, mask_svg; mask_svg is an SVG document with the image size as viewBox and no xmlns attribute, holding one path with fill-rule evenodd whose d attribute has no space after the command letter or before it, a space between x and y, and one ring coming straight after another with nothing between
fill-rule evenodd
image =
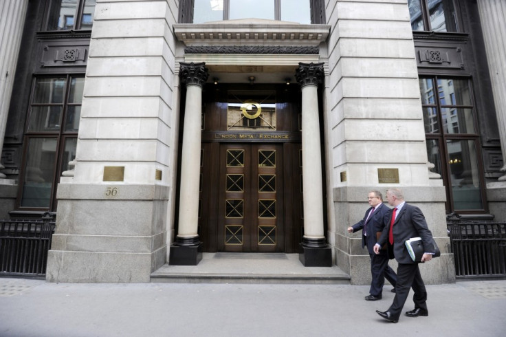
<instances>
[{"instance_id":1,"label":"grey-haired man in dark suit with red tie carrying papers","mask_svg":"<svg viewBox=\"0 0 506 337\"><path fill-rule=\"evenodd\" d=\"M397 284L395 285L395 298L386 312L376 310L382 318L397 323L401 315L402 307L408 298L410 287L415 294L413 302L415 309L406 312L406 316L428 316L427 291L421 279L418 263L412 261L404 242L412 237L421 237L425 253L421 261L430 261L435 253L432 246L432 233L428 229L427 222L421 210L404 202L404 195L399 188L389 188L386 191L388 204L394 208L388 213L387 223L382 236L378 239L374 252L380 254L384 243L388 249L393 250L393 255L399 266L397 267Z\"/></svg>"}]
</instances>

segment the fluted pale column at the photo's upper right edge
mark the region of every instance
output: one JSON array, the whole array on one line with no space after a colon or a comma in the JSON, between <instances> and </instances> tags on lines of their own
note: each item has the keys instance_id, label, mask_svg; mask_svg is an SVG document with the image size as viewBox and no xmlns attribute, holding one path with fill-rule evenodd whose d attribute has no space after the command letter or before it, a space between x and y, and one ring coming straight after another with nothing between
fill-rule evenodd
<instances>
[{"instance_id":1,"label":"fluted pale column at the photo's upper right edge","mask_svg":"<svg viewBox=\"0 0 506 337\"><path fill-rule=\"evenodd\" d=\"M500 172L505 175L498 180L506 182L506 3L503 0L480 0L477 3L496 105L500 147L503 150Z\"/></svg>"}]
</instances>

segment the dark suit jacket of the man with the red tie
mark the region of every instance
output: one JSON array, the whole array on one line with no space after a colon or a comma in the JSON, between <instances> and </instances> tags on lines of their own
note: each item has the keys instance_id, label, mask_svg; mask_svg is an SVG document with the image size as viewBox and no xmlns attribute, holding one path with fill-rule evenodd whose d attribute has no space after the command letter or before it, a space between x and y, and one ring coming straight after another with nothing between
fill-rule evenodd
<instances>
[{"instance_id":1,"label":"dark suit jacket of the man with the red tie","mask_svg":"<svg viewBox=\"0 0 506 337\"><path fill-rule=\"evenodd\" d=\"M380 245L388 243L388 250L391 251L392 247L388 240L388 231L390 230L390 223L393 215L393 210L389 210L386 215L386 226L383 230L382 236L377 241ZM409 256L408 248L406 248L406 240L412 237L421 237L421 242L425 248L425 252L434 253L432 246L432 233L430 232L425 217L421 213L420 208L409 204L404 204L401 208L395 223L393 224L393 255L399 263L415 263Z\"/></svg>"}]
</instances>

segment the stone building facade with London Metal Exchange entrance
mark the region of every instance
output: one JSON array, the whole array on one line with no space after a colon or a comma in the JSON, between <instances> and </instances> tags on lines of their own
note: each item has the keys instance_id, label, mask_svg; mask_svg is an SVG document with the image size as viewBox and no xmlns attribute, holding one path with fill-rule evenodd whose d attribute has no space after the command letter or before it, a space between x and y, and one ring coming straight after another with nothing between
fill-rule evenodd
<instances>
[{"instance_id":1,"label":"stone building facade with London Metal Exchange entrance","mask_svg":"<svg viewBox=\"0 0 506 337\"><path fill-rule=\"evenodd\" d=\"M446 217L506 220L501 1L0 10L0 217L56 213L47 281L298 252L368 284L346 228L400 187L443 250L425 278L446 283Z\"/></svg>"}]
</instances>

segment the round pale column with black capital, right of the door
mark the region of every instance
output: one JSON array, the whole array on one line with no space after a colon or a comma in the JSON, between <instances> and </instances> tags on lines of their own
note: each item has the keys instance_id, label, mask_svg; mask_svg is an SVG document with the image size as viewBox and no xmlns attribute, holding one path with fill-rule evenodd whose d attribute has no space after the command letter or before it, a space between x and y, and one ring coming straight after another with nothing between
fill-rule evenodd
<instances>
[{"instance_id":1,"label":"round pale column with black capital, right of the door","mask_svg":"<svg viewBox=\"0 0 506 337\"><path fill-rule=\"evenodd\" d=\"M307 267L331 266L332 252L323 230L323 185L318 113L318 84L323 63L299 63L295 78L302 87L304 237L300 261Z\"/></svg>"}]
</instances>

